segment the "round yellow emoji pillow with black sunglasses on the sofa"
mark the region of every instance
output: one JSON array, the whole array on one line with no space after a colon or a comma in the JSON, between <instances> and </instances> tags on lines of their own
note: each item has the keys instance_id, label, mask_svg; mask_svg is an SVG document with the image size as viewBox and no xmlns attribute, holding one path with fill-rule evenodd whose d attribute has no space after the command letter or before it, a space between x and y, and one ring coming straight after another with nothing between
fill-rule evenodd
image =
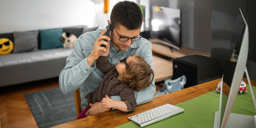
<instances>
[{"instance_id":1,"label":"round yellow emoji pillow with black sunglasses on the sofa","mask_svg":"<svg viewBox=\"0 0 256 128\"><path fill-rule=\"evenodd\" d=\"M7 38L0 38L0 55L11 53L13 50L13 43Z\"/></svg>"}]
</instances>

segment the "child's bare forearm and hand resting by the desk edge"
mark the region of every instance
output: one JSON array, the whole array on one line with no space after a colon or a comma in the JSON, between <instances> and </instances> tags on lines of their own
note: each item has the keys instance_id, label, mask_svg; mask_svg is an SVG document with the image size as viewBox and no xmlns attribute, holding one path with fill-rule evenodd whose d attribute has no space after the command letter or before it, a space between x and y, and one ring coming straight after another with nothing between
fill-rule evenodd
<instances>
[{"instance_id":1,"label":"child's bare forearm and hand resting by the desk edge","mask_svg":"<svg viewBox=\"0 0 256 128\"><path fill-rule=\"evenodd\" d=\"M104 108L116 108L121 111L128 111L125 102L113 100L107 95L102 99L102 105L104 105Z\"/></svg>"}]
</instances>

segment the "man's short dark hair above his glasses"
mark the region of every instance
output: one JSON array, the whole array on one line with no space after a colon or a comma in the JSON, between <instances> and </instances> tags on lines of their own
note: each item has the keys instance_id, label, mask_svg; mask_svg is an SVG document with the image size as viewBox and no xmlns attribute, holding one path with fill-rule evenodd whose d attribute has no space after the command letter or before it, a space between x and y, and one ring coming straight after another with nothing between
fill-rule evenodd
<instances>
[{"instance_id":1,"label":"man's short dark hair above his glasses","mask_svg":"<svg viewBox=\"0 0 256 128\"><path fill-rule=\"evenodd\" d=\"M140 29L143 22L143 14L137 3L122 1L116 3L113 7L110 20L117 29L119 29L119 25L122 25L128 30L135 30Z\"/></svg>"}]
</instances>

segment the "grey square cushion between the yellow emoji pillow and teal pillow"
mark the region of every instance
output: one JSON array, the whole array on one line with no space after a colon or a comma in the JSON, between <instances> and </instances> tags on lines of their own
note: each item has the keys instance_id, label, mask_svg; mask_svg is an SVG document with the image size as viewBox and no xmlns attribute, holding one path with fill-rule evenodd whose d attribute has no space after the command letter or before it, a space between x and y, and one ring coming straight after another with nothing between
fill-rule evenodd
<instances>
[{"instance_id":1,"label":"grey square cushion between the yellow emoji pillow and teal pillow","mask_svg":"<svg viewBox=\"0 0 256 128\"><path fill-rule=\"evenodd\" d=\"M13 53L30 52L38 50L38 31L13 32L14 49Z\"/></svg>"}]
</instances>

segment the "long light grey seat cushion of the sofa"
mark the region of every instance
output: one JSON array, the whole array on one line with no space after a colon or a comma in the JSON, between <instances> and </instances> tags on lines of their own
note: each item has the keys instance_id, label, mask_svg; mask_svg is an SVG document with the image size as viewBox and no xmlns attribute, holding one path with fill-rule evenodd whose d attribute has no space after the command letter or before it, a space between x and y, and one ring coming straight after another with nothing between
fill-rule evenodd
<instances>
[{"instance_id":1,"label":"long light grey seat cushion of the sofa","mask_svg":"<svg viewBox=\"0 0 256 128\"><path fill-rule=\"evenodd\" d=\"M48 61L51 59L67 58L73 49L47 49L34 52L12 53L0 56L0 68L10 65Z\"/></svg>"}]
</instances>

